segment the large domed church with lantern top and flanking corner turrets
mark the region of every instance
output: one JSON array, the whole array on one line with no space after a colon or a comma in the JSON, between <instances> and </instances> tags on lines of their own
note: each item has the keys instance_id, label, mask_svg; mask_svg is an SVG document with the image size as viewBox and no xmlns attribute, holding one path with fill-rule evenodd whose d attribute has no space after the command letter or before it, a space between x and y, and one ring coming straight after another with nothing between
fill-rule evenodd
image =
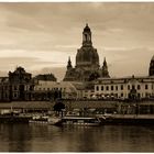
<instances>
[{"instance_id":1,"label":"large domed church with lantern top and flanking corner turrets","mask_svg":"<svg viewBox=\"0 0 154 154\"><path fill-rule=\"evenodd\" d=\"M77 50L76 66L73 67L69 57L64 80L91 81L98 77L109 77L108 65L105 58L103 66L100 68L99 55L92 46L91 30L88 24L86 24L82 32L82 45Z\"/></svg>"}]
</instances>

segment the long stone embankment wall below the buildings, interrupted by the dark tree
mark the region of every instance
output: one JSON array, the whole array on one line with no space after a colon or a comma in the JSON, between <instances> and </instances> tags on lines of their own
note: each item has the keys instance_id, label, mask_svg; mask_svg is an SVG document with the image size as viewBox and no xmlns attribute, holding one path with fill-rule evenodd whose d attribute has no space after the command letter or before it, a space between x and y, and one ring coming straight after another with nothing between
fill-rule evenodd
<instances>
[{"instance_id":1,"label":"long stone embankment wall below the buildings, interrupted by the dark tree","mask_svg":"<svg viewBox=\"0 0 154 154\"><path fill-rule=\"evenodd\" d=\"M123 102L116 100L62 100L66 109L112 109L121 113L129 113L135 110L136 107L139 112L146 110L147 113L154 113L154 101L133 101ZM12 101L12 102L0 102L0 110L2 109L21 109L21 110L53 110L55 102L51 101Z\"/></svg>"}]
</instances>

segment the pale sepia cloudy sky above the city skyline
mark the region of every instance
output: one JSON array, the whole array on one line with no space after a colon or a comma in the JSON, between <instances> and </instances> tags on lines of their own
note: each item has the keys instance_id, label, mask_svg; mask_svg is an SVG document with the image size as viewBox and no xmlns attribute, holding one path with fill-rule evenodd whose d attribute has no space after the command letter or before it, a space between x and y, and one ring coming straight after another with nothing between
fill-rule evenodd
<instances>
[{"instance_id":1,"label":"pale sepia cloudy sky above the city skyline","mask_svg":"<svg viewBox=\"0 0 154 154\"><path fill-rule=\"evenodd\" d=\"M154 3L0 3L0 75L23 66L61 80L75 65L86 23L112 77L147 75L154 55Z\"/></svg>"}]
</instances>

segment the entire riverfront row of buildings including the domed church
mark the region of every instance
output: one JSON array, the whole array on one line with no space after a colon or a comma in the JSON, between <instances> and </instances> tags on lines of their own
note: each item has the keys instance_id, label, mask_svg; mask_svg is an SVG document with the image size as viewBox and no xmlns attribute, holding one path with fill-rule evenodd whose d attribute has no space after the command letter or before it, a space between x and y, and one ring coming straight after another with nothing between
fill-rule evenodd
<instances>
[{"instance_id":1,"label":"entire riverfront row of buildings including the domed church","mask_svg":"<svg viewBox=\"0 0 154 154\"><path fill-rule=\"evenodd\" d=\"M82 45L77 50L76 66L70 57L63 81L38 76L32 78L23 67L16 67L8 77L0 78L0 101L63 99L143 99L154 97L154 57L148 75L144 77L112 78L106 58L102 66L92 46L91 30L86 24Z\"/></svg>"}]
</instances>

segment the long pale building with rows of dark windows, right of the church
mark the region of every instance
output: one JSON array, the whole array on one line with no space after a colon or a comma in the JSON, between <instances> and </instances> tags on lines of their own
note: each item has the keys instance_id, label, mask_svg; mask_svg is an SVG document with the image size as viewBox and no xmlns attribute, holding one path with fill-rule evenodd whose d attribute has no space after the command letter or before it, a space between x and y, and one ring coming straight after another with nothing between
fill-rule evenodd
<instances>
[{"instance_id":1,"label":"long pale building with rows of dark windows, right of the church","mask_svg":"<svg viewBox=\"0 0 154 154\"><path fill-rule=\"evenodd\" d=\"M154 77L99 78L97 98L143 99L154 97Z\"/></svg>"}]
</instances>

